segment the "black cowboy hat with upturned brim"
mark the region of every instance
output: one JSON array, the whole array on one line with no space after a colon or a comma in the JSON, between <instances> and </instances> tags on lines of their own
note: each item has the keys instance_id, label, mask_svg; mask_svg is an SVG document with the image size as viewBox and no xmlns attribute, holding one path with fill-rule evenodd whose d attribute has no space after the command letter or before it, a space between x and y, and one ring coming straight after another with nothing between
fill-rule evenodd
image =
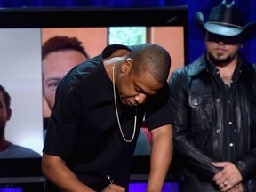
<instances>
[{"instance_id":1,"label":"black cowboy hat with upturned brim","mask_svg":"<svg viewBox=\"0 0 256 192\"><path fill-rule=\"evenodd\" d=\"M223 0L221 4L212 8L208 21L204 23L204 15L202 12L196 12L196 23L199 28L212 34L220 36L244 36L250 39L256 36L256 23L249 22L244 25L244 16L232 1L227 4L227 0Z\"/></svg>"}]
</instances>

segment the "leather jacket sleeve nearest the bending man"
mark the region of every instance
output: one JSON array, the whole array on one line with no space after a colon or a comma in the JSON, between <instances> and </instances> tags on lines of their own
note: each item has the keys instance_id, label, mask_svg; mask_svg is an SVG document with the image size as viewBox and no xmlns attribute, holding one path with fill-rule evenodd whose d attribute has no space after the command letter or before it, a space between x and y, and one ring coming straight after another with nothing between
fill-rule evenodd
<instances>
[{"instance_id":1,"label":"leather jacket sleeve nearest the bending man","mask_svg":"<svg viewBox=\"0 0 256 192\"><path fill-rule=\"evenodd\" d=\"M212 165L213 159L196 146L191 139L190 123L188 118L188 77L183 68L174 72L169 81L172 116L174 121L173 142L174 156L177 156L191 172L204 180L212 180L220 169ZM180 162L180 161L179 161Z\"/></svg>"}]
</instances>

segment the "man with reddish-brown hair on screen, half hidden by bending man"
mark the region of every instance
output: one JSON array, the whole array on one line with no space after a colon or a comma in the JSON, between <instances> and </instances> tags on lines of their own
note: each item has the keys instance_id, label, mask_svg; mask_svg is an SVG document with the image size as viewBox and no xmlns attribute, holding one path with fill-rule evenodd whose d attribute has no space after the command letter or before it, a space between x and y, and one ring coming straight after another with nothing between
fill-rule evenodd
<instances>
[{"instance_id":1,"label":"man with reddish-brown hair on screen, half hidden by bending man","mask_svg":"<svg viewBox=\"0 0 256 192\"><path fill-rule=\"evenodd\" d=\"M55 100L55 91L63 76L71 68L89 60L90 57L82 42L76 37L53 36L43 44L42 59L44 99L51 112Z\"/></svg>"}]
</instances>

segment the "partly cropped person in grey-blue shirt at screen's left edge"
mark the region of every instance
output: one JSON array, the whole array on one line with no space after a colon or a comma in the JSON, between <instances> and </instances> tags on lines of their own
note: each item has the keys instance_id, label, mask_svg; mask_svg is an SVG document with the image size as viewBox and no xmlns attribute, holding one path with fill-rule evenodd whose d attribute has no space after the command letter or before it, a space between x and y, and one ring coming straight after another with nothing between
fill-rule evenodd
<instances>
[{"instance_id":1,"label":"partly cropped person in grey-blue shirt at screen's left edge","mask_svg":"<svg viewBox=\"0 0 256 192\"><path fill-rule=\"evenodd\" d=\"M11 119L11 96L0 84L0 159L3 158L41 158L36 151L6 140L4 131L7 121Z\"/></svg>"}]
</instances>

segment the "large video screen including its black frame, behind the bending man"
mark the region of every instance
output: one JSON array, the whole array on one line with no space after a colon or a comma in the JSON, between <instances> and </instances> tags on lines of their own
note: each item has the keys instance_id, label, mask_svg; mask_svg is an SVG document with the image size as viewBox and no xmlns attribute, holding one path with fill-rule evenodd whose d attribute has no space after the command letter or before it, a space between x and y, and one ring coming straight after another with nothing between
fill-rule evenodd
<instances>
[{"instance_id":1,"label":"large video screen including its black frame, behind the bending man","mask_svg":"<svg viewBox=\"0 0 256 192\"><path fill-rule=\"evenodd\" d=\"M88 19L89 16L93 18L95 15L100 15L100 20ZM49 100L44 91L46 75L42 55L44 43L49 39L55 36L76 37L90 58L100 54L108 44L160 44L171 54L170 75L173 70L184 66L188 60L186 7L60 9L58 12L51 9L25 9L22 12L2 10L0 17L8 18L8 20L0 20L0 84L11 96L12 109L12 116L4 127L4 137L12 144L31 149L40 156L47 132L47 122L51 115ZM58 68L60 70L55 72L62 73L64 68L60 67ZM65 73L69 69L71 68L65 68ZM55 88L58 84L58 81L54 82ZM53 87L52 91L55 88ZM147 124L142 124L134 153L135 165L132 168L132 174L136 175L134 180L140 180L138 175L148 173L150 150L150 133ZM38 156L34 157L38 158ZM21 157L13 156L13 158ZM22 156L22 158L31 158L31 156ZM40 157L38 159L36 169L39 170ZM141 162L145 166L140 166Z\"/></svg>"}]
</instances>

